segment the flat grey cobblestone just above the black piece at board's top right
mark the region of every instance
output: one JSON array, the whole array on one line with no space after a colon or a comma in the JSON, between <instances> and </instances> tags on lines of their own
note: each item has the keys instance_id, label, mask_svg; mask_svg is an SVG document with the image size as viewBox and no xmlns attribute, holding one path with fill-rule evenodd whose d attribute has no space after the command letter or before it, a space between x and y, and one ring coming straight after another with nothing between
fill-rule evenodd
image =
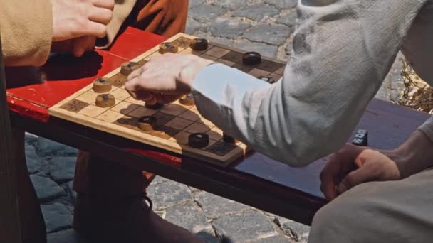
<instances>
[{"instance_id":1,"label":"flat grey cobblestone just above the black piece at board's top right","mask_svg":"<svg viewBox=\"0 0 433 243\"><path fill-rule=\"evenodd\" d=\"M278 23L261 23L245 32L244 38L249 41L264 42L271 45L282 45L293 33L293 27Z\"/></svg>"}]
</instances>

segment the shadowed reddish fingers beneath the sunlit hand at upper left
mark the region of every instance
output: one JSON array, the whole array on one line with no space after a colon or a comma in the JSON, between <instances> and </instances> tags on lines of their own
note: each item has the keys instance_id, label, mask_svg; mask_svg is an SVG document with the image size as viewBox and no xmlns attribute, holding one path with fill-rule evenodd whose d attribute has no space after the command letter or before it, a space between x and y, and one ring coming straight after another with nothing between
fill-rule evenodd
<instances>
[{"instance_id":1,"label":"shadowed reddish fingers beneath the sunlit hand at upper left","mask_svg":"<svg viewBox=\"0 0 433 243\"><path fill-rule=\"evenodd\" d=\"M54 53L71 53L75 57L84 55L85 52L95 48L95 36L81 36L72 40L58 41L51 45Z\"/></svg>"}]
</instances>

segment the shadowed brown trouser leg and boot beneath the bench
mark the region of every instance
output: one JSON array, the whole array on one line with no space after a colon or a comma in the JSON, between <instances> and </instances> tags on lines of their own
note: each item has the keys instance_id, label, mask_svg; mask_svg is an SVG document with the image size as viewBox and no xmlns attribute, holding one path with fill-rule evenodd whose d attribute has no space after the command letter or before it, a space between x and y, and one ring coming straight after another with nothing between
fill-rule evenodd
<instances>
[{"instance_id":1,"label":"shadowed brown trouser leg and boot beneath the bench","mask_svg":"<svg viewBox=\"0 0 433 243\"><path fill-rule=\"evenodd\" d=\"M140 171L80 151L76 176L87 180L74 184L78 197L73 226L95 242L202 242L152 211Z\"/></svg>"}]
</instances>

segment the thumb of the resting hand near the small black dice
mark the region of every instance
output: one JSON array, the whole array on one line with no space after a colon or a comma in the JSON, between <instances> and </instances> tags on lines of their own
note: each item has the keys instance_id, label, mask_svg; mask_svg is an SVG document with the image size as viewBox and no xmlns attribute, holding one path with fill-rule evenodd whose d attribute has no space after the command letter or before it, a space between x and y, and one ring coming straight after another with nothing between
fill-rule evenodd
<instances>
[{"instance_id":1,"label":"thumb of the resting hand near the small black dice","mask_svg":"<svg viewBox=\"0 0 433 243\"><path fill-rule=\"evenodd\" d=\"M355 164L358 166L358 169L348 173L348 175L343 178L340 185L338 185L339 194L344 193L346 190L349 190L356 185L366 183L376 178L377 171L370 168L368 164L363 164L363 161L361 161L360 158L355 159Z\"/></svg>"}]
</instances>

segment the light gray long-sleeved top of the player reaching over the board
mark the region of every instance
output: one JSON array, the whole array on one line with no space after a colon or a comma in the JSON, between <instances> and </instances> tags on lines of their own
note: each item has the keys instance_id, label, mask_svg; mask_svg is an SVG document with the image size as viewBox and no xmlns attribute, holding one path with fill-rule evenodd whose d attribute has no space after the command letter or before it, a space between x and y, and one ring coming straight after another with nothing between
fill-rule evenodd
<instances>
[{"instance_id":1,"label":"light gray long-sleeved top of the player reaching over the board","mask_svg":"<svg viewBox=\"0 0 433 243\"><path fill-rule=\"evenodd\" d=\"M299 0L281 80L209 65L194 99L203 117L256 151L306 166L343 146L399 50L432 83L432 46L433 0ZM433 139L432 119L420 129Z\"/></svg>"}]
</instances>

